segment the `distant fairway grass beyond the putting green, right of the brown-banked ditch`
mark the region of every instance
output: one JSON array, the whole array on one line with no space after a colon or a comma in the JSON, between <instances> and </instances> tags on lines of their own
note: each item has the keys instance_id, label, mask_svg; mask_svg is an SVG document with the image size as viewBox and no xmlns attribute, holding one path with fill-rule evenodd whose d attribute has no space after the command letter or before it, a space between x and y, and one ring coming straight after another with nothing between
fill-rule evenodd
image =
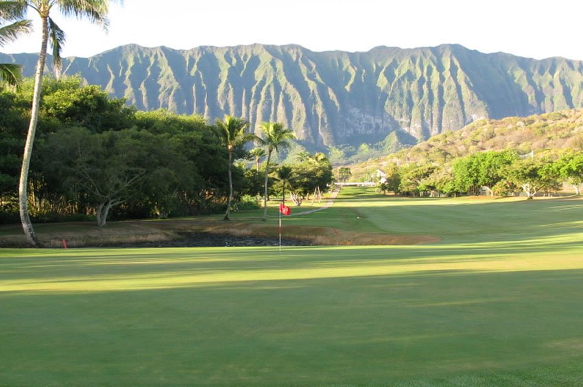
<instances>
[{"instance_id":1,"label":"distant fairway grass beyond the putting green, right of the brown-banked ditch","mask_svg":"<svg viewBox=\"0 0 583 387\"><path fill-rule=\"evenodd\" d=\"M433 235L444 243L578 241L581 198L395 198L345 187L329 210L290 218L311 226L396 235ZM293 223L290 223L293 224ZM558 239L554 239L556 242Z\"/></svg>"}]
</instances>

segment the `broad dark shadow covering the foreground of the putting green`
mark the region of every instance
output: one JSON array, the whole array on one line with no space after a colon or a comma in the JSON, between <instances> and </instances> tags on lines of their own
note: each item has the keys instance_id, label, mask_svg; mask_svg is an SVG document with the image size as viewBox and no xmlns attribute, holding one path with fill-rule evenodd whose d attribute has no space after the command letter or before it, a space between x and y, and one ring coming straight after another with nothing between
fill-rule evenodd
<instances>
[{"instance_id":1,"label":"broad dark shadow covering the foreground of the putting green","mask_svg":"<svg viewBox=\"0 0 583 387\"><path fill-rule=\"evenodd\" d=\"M378 384L564 366L582 360L582 280L583 269L478 272L462 265L156 289L143 279L146 288L136 290L120 283L96 292L0 292L0 379Z\"/></svg>"}]
</instances>

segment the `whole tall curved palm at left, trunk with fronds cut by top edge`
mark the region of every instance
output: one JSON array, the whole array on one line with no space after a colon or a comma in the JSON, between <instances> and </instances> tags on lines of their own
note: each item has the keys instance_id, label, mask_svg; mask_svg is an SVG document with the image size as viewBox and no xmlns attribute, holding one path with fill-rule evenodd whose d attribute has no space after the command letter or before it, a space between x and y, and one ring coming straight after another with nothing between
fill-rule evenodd
<instances>
[{"instance_id":1,"label":"whole tall curved palm at left, trunk with fronds cut by top edge","mask_svg":"<svg viewBox=\"0 0 583 387\"><path fill-rule=\"evenodd\" d=\"M106 14L108 12L109 0L13 0L4 1L5 3L19 3L23 7L30 8L38 14L41 21L42 38L40 41L40 51L38 62L36 64L36 73L34 75L34 91L32 94L32 109L30 112L30 124L26 136L24 148L21 176L19 180L19 210L23 231L28 243L36 247L38 239L32 228L28 213L28 171L30 158L32 156L32 145L34 143L34 134L38 122L38 109L40 107L40 89L43 86L43 72L47 60L47 46L51 40L53 49L53 64L56 69L60 69L60 52L64 43L64 32L51 19L51 12L60 10L65 16L75 16L77 18L86 17L89 21L102 25L104 28L108 25Z\"/></svg>"}]
</instances>

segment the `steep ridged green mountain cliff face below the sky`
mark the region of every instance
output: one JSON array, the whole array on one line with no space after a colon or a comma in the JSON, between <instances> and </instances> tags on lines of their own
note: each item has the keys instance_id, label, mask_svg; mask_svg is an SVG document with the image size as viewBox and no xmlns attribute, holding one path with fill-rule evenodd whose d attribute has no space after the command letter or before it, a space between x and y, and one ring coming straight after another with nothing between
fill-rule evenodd
<instances>
[{"instance_id":1,"label":"steep ridged green mountain cliff face below the sky","mask_svg":"<svg viewBox=\"0 0 583 387\"><path fill-rule=\"evenodd\" d=\"M0 54L34 73L33 54ZM167 108L281 121L315 146L378 141L393 131L427 139L480 118L583 107L583 62L482 54L460 45L313 52L297 45L118 47L67 58L80 74L141 110Z\"/></svg>"}]
</instances>

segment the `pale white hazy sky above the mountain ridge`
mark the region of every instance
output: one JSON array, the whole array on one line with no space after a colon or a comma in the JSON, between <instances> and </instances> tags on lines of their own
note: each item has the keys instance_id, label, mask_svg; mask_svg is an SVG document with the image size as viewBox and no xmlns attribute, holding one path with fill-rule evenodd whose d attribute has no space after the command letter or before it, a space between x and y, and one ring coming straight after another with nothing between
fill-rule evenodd
<instances>
[{"instance_id":1,"label":"pale white hazy sky above the mountain ridge","mask_svg":"<svg viewBox=\"0 0 583 387\"><path fill-rule=\"evenodd\" d=\"M129 43L174 49L296 43L312 51L459 43L486 53L583 60L581 14L582 0L124 0L111 6L108 32L88 21L54 19L67 33L63 56ZM38 52L39 42L32 34L0 51Z\"/></svg>"}]
</instances>

